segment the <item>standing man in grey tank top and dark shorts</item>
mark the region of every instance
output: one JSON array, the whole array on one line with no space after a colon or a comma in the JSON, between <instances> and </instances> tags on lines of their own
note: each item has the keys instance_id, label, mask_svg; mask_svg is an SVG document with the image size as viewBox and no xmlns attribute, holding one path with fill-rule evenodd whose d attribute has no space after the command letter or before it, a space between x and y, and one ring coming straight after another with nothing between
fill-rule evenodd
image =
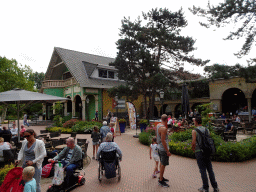
<instances>
[{"instance_id":1,"label":"standing man in grey tank top and dark shorts","mask_svg":"<svg viewBox=\"0 0 256 192\"><path fill-rule=\"evenodd\" d=\"M161 116L161 123L157 125L157 148L158 154L160 157L160 177L158 179L158 185L162 187L169 187L166 182L169 182L168 179L164 178L164 170L165 166L169 165L169 156L171 153L169 151L169 142L168 142L168 134L167 134L167 122L168 117L166 114Z\"/></svg>"}]
</instances>

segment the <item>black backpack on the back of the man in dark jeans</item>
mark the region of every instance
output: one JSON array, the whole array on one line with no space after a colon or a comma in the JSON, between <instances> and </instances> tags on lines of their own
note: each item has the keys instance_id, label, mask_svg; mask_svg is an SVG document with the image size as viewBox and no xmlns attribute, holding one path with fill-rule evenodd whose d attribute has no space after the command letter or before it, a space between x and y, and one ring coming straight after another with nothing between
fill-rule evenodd
<instances>
[{"instance_id":1,"label":"black backpack on the back of the man in dark jeans","mask_svg":"<svg viewBox=\"0 0 256 192\"><path fill-rule=\"evenodd\" d=\"M202 143L199 145L202 153L206 157L210 157L211 155L214 155L216 152L214 141L210 137L210 135L207 132L207 129L205 128L205 133L202 133L199 129L195 129L196 132L201 136Z\"/></svg>"}]
</instances>

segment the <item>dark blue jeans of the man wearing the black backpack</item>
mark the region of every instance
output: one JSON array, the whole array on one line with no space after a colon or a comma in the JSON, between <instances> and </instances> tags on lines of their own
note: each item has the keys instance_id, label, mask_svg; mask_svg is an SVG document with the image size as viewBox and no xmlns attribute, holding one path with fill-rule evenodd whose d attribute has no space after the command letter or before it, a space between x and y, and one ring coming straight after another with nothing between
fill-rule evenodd
<instances>
[{"instance_id":1,"label":"dark blue jeans of the man wearing the black backpack","mask_svg":"<svg viewBox=\"0 0 256 192\"><path fill-rule=\"evenodd\" d=\"M209 189L206 170L208 171L208 175L209 175L212 187L217 188L218 184L215 180L215 175L212 169L212 163L211 163L210 157L203 156L202 152L196 152L195 155L196 155L197 164L201 173L201 178L203 180L203 188L206 190Z\"/></svg>"}]
</instances>

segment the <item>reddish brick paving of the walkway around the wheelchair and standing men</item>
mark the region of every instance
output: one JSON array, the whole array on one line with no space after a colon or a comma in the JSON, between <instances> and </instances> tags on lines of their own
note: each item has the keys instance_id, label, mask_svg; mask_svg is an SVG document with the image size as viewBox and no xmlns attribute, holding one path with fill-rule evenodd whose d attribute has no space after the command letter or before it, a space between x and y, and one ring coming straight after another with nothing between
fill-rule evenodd
<instances>
[{"instance_id":1,"label":"reddish brick paving of the walkway around the wheelchair and standing men","mask_svg":"<svg viewBox=\"0 0 256 192\"><path fill-rule=\"evenodd\" d=\"M33 126L37 133L45 129L45 126ZM138 131L139 132L139 131ZM202 186L199 169L195 159L185 158L177 155L170 157L170 165L166 167L165 177L170 179L170 188L158 186L157 179L152 178L154 161L149 159L149 147L139 143L133 138L134 130L115 138L123 152L123 161L120 162L122 177L106 179L103 177L101 183L98 181L98 162L92 160L85 169L86 182L73 191L136 191L136 192L193 192ZM66 135L63 135L65 137ZM87 138L90 141L88 155L92 157L92 145L90 135L78 135L77 138ZM242 163L213 162L213 169L220 191L222 192L255 192L256 191L256 159ZM42 192L47 190L48 183L42 184ZM210 187L210 191L213 189Z\"/></svg>"}]
</instances>

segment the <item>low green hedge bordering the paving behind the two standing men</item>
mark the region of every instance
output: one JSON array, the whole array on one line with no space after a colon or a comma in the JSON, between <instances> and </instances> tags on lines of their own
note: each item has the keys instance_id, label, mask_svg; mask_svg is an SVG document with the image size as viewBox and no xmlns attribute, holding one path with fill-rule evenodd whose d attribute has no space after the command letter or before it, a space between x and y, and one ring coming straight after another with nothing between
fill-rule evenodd
<instances>
[{"instance_id":1,"label":"low green hedge bordering the paving behind the two standing men","mask_svg":"<svg viewBox=\"0 0 256 192\"><path fill-rule=\"evenodd\" d=\"M188 129L169 136L169 150L171 153L195 158L195 153L191 148L192 130ZM142 132L139 134L139 141L144 145L150 145L152 136L150 132ZM212 156L213 161L241 162L256 157L256 136L240 142L225 142L220 136L211 131L211 137L216 147L216 153Z\"/></svg>"}]
</instances>

